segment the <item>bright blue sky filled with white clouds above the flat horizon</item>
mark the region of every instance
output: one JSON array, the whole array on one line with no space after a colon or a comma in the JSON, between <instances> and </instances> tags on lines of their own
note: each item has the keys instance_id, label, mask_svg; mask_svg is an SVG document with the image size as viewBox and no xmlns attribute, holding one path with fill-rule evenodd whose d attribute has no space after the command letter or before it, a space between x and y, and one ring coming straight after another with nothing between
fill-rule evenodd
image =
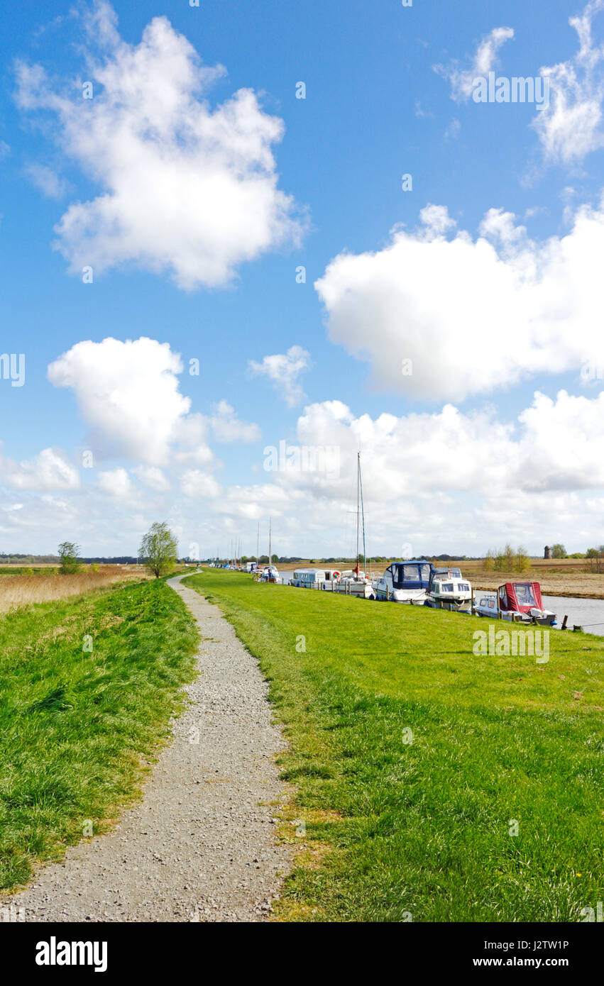
<instances>
[{"instance_id":1,"label":"bright blue sky filled with white clouds above the flat horizon","mask_svg":"<svg viewBox=\"0 0 604 986\"><path fill-rule=\"evenodd\" d=\"M604 541L601 7L3 10L0 550L166 518L251 552L269 515L279 553L349 550L356 449L369 551ZM476 103L480 64L550 66L551 104ZM268 472L280 441L338 475Z\"/></svg>"}]
</instances>

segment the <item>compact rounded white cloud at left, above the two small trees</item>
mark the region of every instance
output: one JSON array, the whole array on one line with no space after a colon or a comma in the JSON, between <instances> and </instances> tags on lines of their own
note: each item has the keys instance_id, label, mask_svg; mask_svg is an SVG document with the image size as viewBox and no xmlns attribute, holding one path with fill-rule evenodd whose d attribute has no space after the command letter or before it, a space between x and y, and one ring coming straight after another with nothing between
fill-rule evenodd
<instances>
[{"instance_id":1,"label":"compact rounded white cloud at left, above the two small trees","mask_svg":"<svg viewBox=\"0 0 604 986\"><path fill-rule=\"evenodd\" d=\"M74 391L99 455L162 465L189 412L189 397L179 392L182 371L167 342L107 338L78 342L50 364L48 380Z\"/></svg>"}]
</instances>

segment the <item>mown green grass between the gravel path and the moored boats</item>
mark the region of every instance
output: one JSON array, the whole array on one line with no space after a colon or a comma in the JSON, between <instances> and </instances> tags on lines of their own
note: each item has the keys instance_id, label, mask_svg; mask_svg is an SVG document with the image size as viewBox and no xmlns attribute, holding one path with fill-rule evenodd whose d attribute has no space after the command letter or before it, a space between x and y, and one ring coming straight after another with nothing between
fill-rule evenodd
<instances>
[{"instance_id":1,"label":"mown green grass between the gravel path and the moored boats","mask_svg":"<svg viewBox=\"0 0 604 986\"><path fill-rule=\"evenodd\" d=\"M475 657L491 621L230 572L187 585L260 659L290 743L303 846L280 920L568 922L604 899L602 639L553 630L546 665Z\"/></svg>"}]
</instances>

